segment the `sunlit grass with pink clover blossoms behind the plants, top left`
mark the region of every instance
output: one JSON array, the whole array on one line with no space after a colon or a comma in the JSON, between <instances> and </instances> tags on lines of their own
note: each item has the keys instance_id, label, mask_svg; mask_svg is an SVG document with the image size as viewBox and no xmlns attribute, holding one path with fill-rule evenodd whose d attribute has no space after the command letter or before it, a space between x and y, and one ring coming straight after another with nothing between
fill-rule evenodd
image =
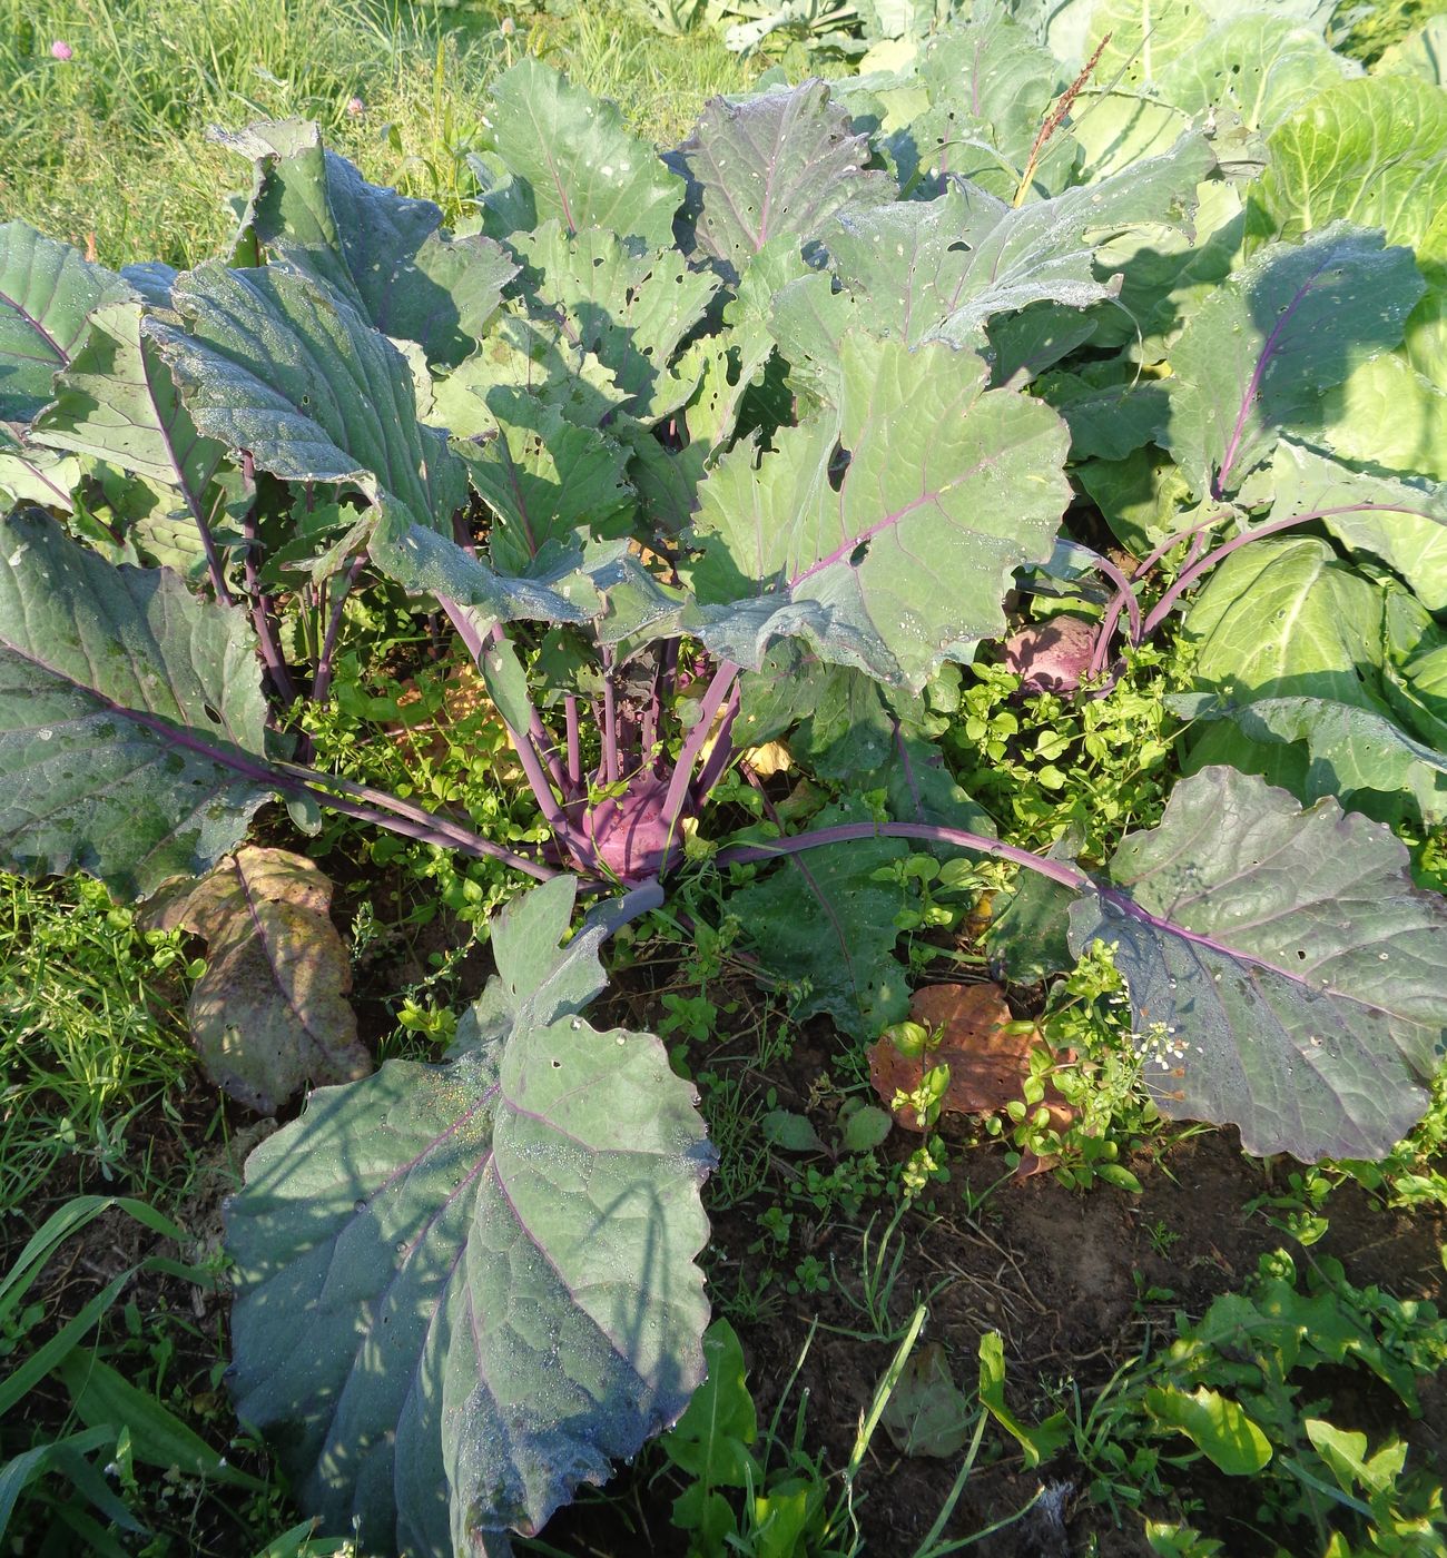
<instances>
[{"instance_id":1,"label":"sunlit grass with pink clover blossoms behind the plants, top left","mask_svg":"<svg viewBox=\"0 0 1447 1558\"><path fill-rule=\"evenodd\" d=\"M488 84L523 53L615 97L660 142L754 73L712 34L662 37L607 6L503 26L424 0L0 0L0 217L104 265L192 265L234 223L215 192L246 179L207 128L313 118L369 179L456 220Z\"/></svg>"}]
</instances>

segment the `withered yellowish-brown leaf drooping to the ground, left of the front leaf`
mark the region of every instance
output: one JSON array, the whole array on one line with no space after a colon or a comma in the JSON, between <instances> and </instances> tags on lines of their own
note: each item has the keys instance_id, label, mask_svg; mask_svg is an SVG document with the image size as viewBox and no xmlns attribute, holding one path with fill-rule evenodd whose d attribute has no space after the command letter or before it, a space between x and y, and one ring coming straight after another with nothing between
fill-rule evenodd
<instances>
[{"instance_id":1,"label":"withered yellowish-brown leaf drooping to the ground, left of the front leaf","mask_svg":"<svg viewBox=\"0 0 1447 1558\"><path fill-rule=\"evenodd\" d=\"M332 883L310 860L246 846L146 908L146 924L206 938L206 972L187 1002L192 1038L212 1081L257 1114L274 1114L307 1083L372 1069L330 902Z\"/></svg>"}]
</instances>

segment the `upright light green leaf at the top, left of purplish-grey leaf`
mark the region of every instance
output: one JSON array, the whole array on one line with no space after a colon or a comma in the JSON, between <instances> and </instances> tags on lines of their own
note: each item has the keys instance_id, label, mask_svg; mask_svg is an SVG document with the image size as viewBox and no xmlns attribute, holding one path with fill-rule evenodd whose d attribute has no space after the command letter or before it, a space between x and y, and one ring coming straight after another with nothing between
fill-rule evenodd
<instances>
[{"instance_id":1,"label":"upright light green leaf at the top, left of purplish-grey leaf","mask_svg":"<svg viewBox=\"0 0 1447 1558\"><path fill-rule=\"evenodd\" d=\"M673 241L684 181L623 128L615 103L520 59L494 84L489 117L498 157L525 184L528 226L556 217L569 232L606 227L650 248Z\"/></svg>"}]
</instances>

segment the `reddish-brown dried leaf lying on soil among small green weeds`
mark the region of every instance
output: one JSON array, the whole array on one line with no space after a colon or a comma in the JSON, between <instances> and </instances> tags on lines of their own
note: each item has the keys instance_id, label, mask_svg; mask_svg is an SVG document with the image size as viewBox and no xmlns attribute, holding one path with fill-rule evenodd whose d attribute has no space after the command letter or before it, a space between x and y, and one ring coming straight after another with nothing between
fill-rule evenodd
<instances>
[{"instance_id":1,"label":"reddish-brown dried leaf lying on soil among small green weeds","mask_svg":"<svg viewBox=\"0 0 1447 1558\"><path fill-rule=\"evenodd\" d=\"M925 1055L900 1055L885 1038L869 1049L869 1080L885 1105L896 1092L913 1092L935 1066L950 1067L942 1114L994 1114L1023 1098L1030 1056L1044 1049L1039 1030L1016 1031L1014 1017L998 985L928 985L910 1002L914 1022L939 1033L939 1045ZM1073 1119L1061 1094L1045 1089L1045 1105L1058 1128ZM907 1130L921 1130L907 1109L897 1116Z\"/></svg>"}]
</instances>

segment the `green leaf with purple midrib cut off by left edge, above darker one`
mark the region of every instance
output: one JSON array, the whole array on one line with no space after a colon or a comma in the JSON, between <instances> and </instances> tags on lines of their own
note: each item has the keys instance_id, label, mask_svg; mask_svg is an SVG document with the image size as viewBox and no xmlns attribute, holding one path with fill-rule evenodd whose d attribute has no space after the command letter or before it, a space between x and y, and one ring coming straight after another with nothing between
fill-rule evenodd
<instances>
[{"instance_id":1,"label":"green leaf with purple midrib cut off by left edge, above darker one","mask_svg":"<svg viewBox=\"0 0 1447 1558\"><path fill-rule=\"evenodd\" d=\"M23 221L0 223L0 422L28 422L79 346L86 316L129 298L111 271Z\"/></svg>"}]
</instances>

